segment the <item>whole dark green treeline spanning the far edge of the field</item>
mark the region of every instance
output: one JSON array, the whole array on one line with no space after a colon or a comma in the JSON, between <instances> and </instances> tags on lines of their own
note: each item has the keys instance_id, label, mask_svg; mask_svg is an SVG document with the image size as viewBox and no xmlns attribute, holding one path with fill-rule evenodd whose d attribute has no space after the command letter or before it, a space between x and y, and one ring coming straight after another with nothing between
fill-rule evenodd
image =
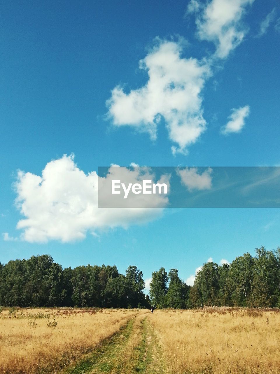
<instances>
[{"instance_id":1,"label":"whole dark green treeline spanning the far edge of the field","mask_svg":"<svg viewBox=\"0 0 280 374\"><path fill-rule=\"evenodd\" d=\"M62 269L49 255L0 263L0 305L110 308L197 308L202 306L280 307L280 248L256 249L231 264L205 263L193 286L164 267L152 273L149 295L143 273L128 266L78 266Z\"/></svg>"}]
</instances>

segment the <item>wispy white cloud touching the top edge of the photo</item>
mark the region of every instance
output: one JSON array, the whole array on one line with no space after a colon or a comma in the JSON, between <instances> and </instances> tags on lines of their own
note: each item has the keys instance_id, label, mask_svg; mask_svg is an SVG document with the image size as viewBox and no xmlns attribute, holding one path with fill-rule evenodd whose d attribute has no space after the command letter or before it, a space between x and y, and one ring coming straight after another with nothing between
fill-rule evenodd
<instances>
[{"instance_id":1,"label":"wispy white cloud touching the top edge of the photo","mask_svg":"<svg viewBox=\"0 0 280 374\"><path fill-rule=\"evenodd\" d=\"M246 28L242 17L246 6L254 0L212 0L203 5L203 11L196 17L197 34L201 40L214 42L215 56L226 58L244 39ZM189 4L189 12L201 7L197 1Z\"/></svg>"}]
</instances>

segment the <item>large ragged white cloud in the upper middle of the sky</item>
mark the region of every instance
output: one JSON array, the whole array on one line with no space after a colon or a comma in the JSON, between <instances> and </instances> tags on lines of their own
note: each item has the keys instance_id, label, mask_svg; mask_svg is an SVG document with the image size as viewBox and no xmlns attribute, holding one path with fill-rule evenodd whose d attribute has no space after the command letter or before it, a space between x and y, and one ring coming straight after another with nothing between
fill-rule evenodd
<instances>
[{"instance_id":1,"label":"large ragged white cloud in the upper middle of the sky","mask_svg":"<svg viewBox=\"0 0 280 374\"><path fill-rule=\"evenodd\" d=\"M157 45L139 64L148 73L146 85L129 93L117 86L106 103L113 125L133 126L148 132L152 139L156 139L163 117L169 138L176 144L173 153L186 153L186 147L205 131L200 93L211 74L206 62L181 57L182 44L157 39Z\"/></svg>"}]
</instances>

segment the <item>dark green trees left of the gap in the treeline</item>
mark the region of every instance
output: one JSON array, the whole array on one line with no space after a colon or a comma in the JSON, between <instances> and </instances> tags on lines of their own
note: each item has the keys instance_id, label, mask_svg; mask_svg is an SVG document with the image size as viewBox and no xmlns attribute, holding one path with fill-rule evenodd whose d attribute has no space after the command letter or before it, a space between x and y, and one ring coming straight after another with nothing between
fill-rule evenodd
<instances>
[{"instance_id":1,"label":"dark green trees left of the gap in the treeline","mask_svg":"<svg viewBox=\"0 0 280 374\"><path fill-rule=\"evenodd\" d=\"M143 290L143 273L128 266L125 276L116 266L62 269L50 255L0 263L0 305L150 307Z\"/></svg>"}]
</instances>

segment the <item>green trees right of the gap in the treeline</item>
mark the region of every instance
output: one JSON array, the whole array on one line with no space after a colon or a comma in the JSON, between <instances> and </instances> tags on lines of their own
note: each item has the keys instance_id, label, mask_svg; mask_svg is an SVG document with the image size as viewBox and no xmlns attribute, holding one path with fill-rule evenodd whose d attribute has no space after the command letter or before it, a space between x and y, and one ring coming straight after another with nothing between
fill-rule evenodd
<instances>
[{"instance_id":1,"label":"green trees right of the gap in the treeline","mask_svg":"<svg viewBox=\"0 0 280 374\"><path fill-rule=\"evenodd\" d=\"M169 285L168 285L169 279ZM202 306L280 307L280 248L256 249L231 264L208 262L188 287L178 271L164 268L152 274L152 303L159 307L198 308Z\"/></svg>"}]
</instances>

